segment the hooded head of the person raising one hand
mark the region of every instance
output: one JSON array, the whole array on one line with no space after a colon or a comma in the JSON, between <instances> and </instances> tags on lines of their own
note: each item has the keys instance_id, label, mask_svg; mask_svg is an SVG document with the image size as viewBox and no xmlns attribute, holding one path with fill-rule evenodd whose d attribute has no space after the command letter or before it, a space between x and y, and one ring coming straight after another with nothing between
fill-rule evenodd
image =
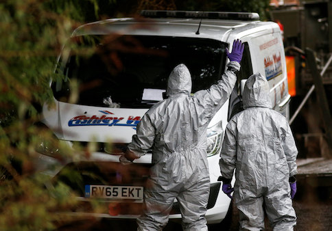
<instances>
[{"instance_id":1,"label":"hooded head of the person raising one hand","mask_svg":"<svg viewBox=\"0 0 332 231\"><path fill-rule=\"evenodd\" d=\"M191 93L191 75L185 64L179 64L169 74L167 96L178 93Z\"/></svg>"}]
</instances>

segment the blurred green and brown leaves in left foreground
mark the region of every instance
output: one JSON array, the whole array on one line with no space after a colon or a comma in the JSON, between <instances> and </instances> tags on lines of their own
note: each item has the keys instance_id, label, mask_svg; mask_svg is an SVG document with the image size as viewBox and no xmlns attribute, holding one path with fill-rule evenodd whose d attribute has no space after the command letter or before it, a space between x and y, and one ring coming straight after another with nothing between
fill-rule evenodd
<instances>
[{"instance_id":1,"label":"blurred green and brown leaves in left foreground","mask_svg":"<svg viewBox=\"0 0 332 231\"><path fill-rule=\"evenodd\" d=\"M40 137L58 145L34 124L43 104L51 102L49 81L60 77L54 67L62 44L84 23L89 6L97 14L95 0L0 3L0 230L54 230L70 219L58 212L76 204L64 183L46 187L50 176L32 163ZM64 155L74 158L69 148L61 148L59 161Z\"/></svg>"}]
</instances>

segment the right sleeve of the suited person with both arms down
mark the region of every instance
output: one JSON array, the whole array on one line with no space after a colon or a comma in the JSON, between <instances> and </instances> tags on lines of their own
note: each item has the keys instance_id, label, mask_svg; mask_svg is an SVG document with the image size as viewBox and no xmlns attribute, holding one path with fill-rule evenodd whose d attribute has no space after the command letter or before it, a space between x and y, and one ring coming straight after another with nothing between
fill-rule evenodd
<instances>
[{"instance_id":1,"label":"right sleeve of the suited person with both arms down","mask_svg":"<svg viewBox=\"0 0 332 231\"><path fill-rule=\"evenodd\" d=\"M286 133L282 144L289 167L289 176L294 176L297 174L296 157L298 155L298 149L296 148L292 130L287 122L286 124Z\"/></svg>"}]
</instances>

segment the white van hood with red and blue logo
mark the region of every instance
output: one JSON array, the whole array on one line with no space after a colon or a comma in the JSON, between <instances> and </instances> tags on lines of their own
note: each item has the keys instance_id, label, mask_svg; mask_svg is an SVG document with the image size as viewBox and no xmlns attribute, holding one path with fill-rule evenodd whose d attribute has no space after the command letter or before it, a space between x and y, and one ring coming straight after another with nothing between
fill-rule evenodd
<instances>
[{"instance_id":1,"label":"white van hood with red and blue logo","mask_svg":"<svg viewBox=\"0 0 332 231\"><path fill-rule=\"evenodd\" d=\"M146 111L57 102L55 108L45 105L43 122L59 139L128 144Z\"/></svg>"}]
</instances>

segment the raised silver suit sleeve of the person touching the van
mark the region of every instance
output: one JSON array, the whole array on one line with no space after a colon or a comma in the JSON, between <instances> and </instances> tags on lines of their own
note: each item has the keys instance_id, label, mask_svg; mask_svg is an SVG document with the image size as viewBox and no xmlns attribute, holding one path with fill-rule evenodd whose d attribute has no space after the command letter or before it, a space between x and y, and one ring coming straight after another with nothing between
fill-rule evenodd
<instances>
[{"instance_id":1,"label":"raised silver suit sleeve of the person touching the van","mask_svg":"<svg viewBox=\"0 0 332 231\"><path fill-rule=\"evenodd\" d=\"M222 78L217 84L213 84L209 89L200 90L194 94L200 105L203 105L206 112L208 112L207 117L213 115L215 111L224 105L235 86L237 77L235 72L228 70L228 67L238 71L240 64L238 62L229 62L226 66L226 71L222 74Z\"/></svg>"}]
</instances>

